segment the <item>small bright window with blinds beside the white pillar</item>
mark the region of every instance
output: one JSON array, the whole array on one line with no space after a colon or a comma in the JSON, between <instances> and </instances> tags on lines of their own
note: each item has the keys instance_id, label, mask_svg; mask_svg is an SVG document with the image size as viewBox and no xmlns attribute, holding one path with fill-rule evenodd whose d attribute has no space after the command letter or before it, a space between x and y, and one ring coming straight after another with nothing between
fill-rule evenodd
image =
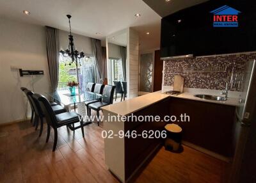
<instances>
[{"instance_id":1,"label":"small bright window with blinds beside the white pillar","mask_svg":"<svg viewBox=\"0 0 256 183\"><path fill-rule=\"evenodd\" d=\"M122 60L111 58L109 59L109 63L111 63L112 81L123 81Z\"/></svg>"}]
</instances>

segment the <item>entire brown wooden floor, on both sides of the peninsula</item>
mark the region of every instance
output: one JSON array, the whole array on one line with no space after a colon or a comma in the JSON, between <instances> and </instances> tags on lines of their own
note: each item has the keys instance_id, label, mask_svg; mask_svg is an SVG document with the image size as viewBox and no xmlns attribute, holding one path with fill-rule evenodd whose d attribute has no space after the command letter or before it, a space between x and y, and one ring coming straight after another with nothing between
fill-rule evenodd
<instances>
[{"instance_id":1,"label":"entire brown wooden floor, on both sides of the peninsula","mask_svg":"<svg viewBox=\"0 0 256 183\"><path fill-rule=\"evenodd\" d=\"M0 127L0 182L118 182L104 163L104 140L95 123L81 130L58 129L58 148L52 152L53 133L38 132L29 122ZM228 164L188 147L173 154L161 148L136 182L225 182Z\"/></svg>"}]
</instances>

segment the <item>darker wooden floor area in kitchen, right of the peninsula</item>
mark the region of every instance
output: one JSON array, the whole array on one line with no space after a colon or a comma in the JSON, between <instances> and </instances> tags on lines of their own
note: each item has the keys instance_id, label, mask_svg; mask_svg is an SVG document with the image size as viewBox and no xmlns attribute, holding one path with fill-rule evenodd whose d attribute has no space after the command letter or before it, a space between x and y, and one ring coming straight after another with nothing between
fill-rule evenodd
<instances>
[{"instance_id":1,"label":"darker wooden floor area in kitchen, right of the peninsula","mask_svg":"<svg viewBox=\"0 0 256 183\"><path fill-rule=\"evenodd\" d=\"M230 164L182 146L175 154L162 147L136 182L227 183Z\"/></svg>"}]
</instances>

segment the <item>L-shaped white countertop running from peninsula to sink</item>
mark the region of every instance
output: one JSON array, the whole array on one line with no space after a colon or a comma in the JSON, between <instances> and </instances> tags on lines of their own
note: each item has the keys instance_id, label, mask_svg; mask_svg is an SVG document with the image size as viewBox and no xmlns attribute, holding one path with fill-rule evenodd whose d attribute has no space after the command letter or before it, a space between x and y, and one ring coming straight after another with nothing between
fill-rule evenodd
<instances>
[{"instance_id":1,"label":"L-shaped white countertop running from peninsula to sink","mask_svg":"<svg viewBox=\"0 0 256 183\"><path fill-rule=\"evenodd\" d=\"M154 92L154 93L148 93L147 95L142 95L140 97L128 99L123 102L118 102L116 104L104 106L104 107L102 107L102 109L109 111L111 113L126 116L126 115L129 115L136 111L139 111L140 109L143 109L147 106L150 106L156 102L159 102L160 100L166 99L167 97L176 97L176 98L180 98L180 99L211 102L211 103L215 103L215 104L224 104L224 105L228 105L228 106L238 106L238 104L239 104L237 98L228 97L228 99L226 101L214 101L214 100L206 100L206 99L200 99L200 98L194 97L194 95L196 95L196 94L209 94L209 93L204 93L204 92L199 92L199 93L198 92L196 92L196 93L184 92L177 96L164 94L163 92L166 92L166 91L158 91L158 92Z\"/></svg>"}]
</instances>

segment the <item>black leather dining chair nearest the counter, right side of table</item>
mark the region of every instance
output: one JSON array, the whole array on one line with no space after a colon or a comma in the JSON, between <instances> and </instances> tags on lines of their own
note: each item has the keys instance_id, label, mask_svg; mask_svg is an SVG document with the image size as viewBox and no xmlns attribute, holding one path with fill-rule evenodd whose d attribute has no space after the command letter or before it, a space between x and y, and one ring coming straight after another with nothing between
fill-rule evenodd
<instances>
[{"instance_id":1,"label":"black leather dining chair nearest the counter, right side of table","mask_svg":"<svg viewBox=\"0 0 256 183\"><path fill-rule=\"evenodd\" d=\"M102 95L106 95L100 102L94 102L92 104L88 105L89 113L88 115L91 115L91 110L97 111L97 122L99 126L99 116L100 116L100 107L108 106L109 104L113 104L113 98L114 98L114 92L115 92L116 86L111 85L105 85Z\"/></svg>"}]
</instances>

